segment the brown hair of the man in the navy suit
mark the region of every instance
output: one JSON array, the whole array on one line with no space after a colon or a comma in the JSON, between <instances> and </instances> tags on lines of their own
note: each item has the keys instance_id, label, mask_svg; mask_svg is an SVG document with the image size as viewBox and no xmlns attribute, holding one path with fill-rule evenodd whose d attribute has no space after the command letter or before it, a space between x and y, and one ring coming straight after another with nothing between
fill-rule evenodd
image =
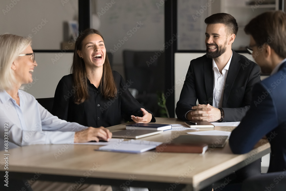
<instances>
[{"instance_id":1,"label":"brown hair of the man in the navy suit","mask_svg":"<svg viewBox=\"0 0 286 191\"><path fill-rule=\"evenodd\" d=\"M244 28L255 42L268 44L281 58L286 58L286 13L268 11L252 19Z\"/></svg>"}]
</instances>

